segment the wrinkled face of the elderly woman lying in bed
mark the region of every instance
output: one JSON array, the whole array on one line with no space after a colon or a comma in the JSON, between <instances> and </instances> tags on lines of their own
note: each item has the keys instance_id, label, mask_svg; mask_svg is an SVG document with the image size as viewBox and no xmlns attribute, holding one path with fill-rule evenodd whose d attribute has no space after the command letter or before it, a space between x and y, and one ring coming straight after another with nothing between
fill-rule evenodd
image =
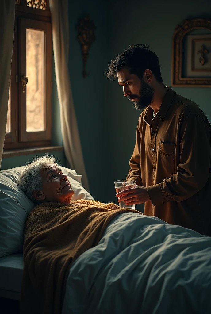
<instances>
[{"instance_id":1,"label":"wrinkled face of the elderly woman lying in bed","mask_svg":"<svg viewBox=\"0 0 211 314\"><path fill-rule=\"evenodd\" d=\"M47 202L69 203L74 194L68 177L56 165L46 165L41 171L41 199Z\"/></svg>"}]
</instances>

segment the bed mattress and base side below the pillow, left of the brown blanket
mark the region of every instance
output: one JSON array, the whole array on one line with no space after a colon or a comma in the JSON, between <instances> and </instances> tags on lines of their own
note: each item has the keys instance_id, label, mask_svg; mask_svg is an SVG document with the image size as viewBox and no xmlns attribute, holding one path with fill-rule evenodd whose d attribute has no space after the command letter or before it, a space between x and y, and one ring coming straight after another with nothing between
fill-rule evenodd
<instances>
[{"instance_id":1,"label":"bed mattress and base side below the pillow, left of the brown blanket","mask_svg":"<svg viewBox=\"0 0 211 314\"><path fill-rule=\"evenodd\" d=\"M20 300L23 277L23 253L0 258L0 296Z\"/></svg>"}]
</instances>

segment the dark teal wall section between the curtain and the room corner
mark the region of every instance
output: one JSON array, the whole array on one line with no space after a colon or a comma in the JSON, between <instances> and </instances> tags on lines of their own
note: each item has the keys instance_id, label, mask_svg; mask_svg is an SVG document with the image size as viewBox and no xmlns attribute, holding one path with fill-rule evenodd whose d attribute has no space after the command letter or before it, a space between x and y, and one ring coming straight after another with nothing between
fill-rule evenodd
<instances>
[{"instance_id":1,"label":"dark teal wall section between the curtain and the room corner","mask_svg":"<svg viewBox=\"0 0 211 314\"><path fill-rule=\"evenodd\" d=\"M84 163L89 179L90 193L99 201L106 201L104 115L106 53L107 53L107 1L70 1L69 73L74 107L78 122ZM81 45L77 41L76 26L87 14L93 20L96 41L93 42L87 62L89 76L83 78Z\"/></svg>"}]
</instances>

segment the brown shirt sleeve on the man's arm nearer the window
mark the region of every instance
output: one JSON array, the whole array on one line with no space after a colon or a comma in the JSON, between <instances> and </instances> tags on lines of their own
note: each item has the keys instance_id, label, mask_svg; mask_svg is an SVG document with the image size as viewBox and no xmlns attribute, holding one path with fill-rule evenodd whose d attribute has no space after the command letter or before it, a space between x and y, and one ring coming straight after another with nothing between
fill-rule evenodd
<instances>
[{"instance_id":1,"label":"brown shirt sleeve on the man's arm nearer the window","mask_svg":"<svg viewBox=\"0 0 211 314\"><path fill-rule=\"evenodd\" d=\"M140 145L141 145L141 132L138 121L138 127L136 132L136 144L133 151L133 155L130 159L130 170L127 175L127 180L137 181L137 185L143 186L141 179L141 167L140 167Z\"/></svg>"}]
</instances>

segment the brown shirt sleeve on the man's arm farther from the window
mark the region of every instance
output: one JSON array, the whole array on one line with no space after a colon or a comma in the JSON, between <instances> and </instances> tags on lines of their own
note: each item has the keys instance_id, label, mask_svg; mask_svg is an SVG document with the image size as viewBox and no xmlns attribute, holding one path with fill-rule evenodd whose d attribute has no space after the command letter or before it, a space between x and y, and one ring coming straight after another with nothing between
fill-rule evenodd
<instances>
[{"instance_id":1,"label":"brown shirt sleeve on the man's arm farther from the window","mask_svg":"<svg viewBox=\"0 0 211 314\"><path fill-rule=\"evenodd\" d=\"M154 206L181 202L201 190L210 171L210 133L201 116L191 114L181 127L180 164L177 173L147 188Z\"/></svg>"}]
</instances>

